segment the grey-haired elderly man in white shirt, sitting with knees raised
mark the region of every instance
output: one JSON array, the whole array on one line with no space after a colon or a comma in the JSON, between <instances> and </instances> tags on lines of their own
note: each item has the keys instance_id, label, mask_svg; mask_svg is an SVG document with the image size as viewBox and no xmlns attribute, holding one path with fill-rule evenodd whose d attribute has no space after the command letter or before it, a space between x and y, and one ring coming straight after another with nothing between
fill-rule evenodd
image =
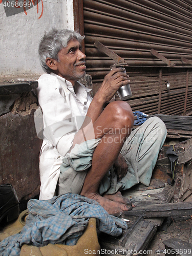
<instances>
[{"instance_id":1,"label":"grey-haired elderly man in white shirt, sitting with knees raised","mask_svg":"<svg viewBox=\"0 0 192 256\"><path fill-rule=\"evenodd\" d=\"M117 214L132 209L120 190L150 184L166 128L152 117L132 131L134 116L127 102L113 101L104 108L130 82L123 68L111 70L94 98L90 96L90 89L78 81L86 75L83 38L54 29L40 41L47 74L40 76L36 90L44 122L39 199L70 192Z\"/></svg>"}]
</instances>

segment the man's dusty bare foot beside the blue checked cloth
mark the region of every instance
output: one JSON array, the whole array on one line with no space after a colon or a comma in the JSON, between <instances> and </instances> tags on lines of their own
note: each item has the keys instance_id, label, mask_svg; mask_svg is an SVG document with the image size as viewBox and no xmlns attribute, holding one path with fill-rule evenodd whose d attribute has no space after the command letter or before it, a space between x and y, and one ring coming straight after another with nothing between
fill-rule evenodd
<instances>
[{"instance_id":1,"label":"man's dusty bare foot beside the blue checked cloth","mask_svg":"<svg viewBox=\"0 0 192 256\"><path fill-rule=\"evenodd\" d=\"M128 211L132 209L131 205L127 205L121 202L112 201L105 197L101 197L98 193L94 195L82 195L97 201L109 214L122 214L123 211Z\"/></svg>"}]
</instances>

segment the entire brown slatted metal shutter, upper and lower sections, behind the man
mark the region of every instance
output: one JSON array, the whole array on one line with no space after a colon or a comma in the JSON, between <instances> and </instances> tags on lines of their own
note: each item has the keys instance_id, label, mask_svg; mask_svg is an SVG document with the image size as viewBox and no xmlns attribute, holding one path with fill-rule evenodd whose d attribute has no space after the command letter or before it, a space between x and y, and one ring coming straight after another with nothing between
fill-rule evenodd
<instances>
[{"instance_id":1,"label":"entire brown slatted metal shutter, upper and lower sections, behind the man","mask_svg":"<svg viewBox=\"0 0 192 256\"><path fill-rule=\"evenodd\" d=\"M191 0L79 1L83 1L87 73L92 75L94 93L114 63L93 46L98 40L129 64L126 71L131 79L133 98L129 103L133 111L170 115L192 111L192 66L181 61L181 57L192 59ZM175 67L165 68L167 65L153 56L151 49Z\"/></svg>"}]
</instances>

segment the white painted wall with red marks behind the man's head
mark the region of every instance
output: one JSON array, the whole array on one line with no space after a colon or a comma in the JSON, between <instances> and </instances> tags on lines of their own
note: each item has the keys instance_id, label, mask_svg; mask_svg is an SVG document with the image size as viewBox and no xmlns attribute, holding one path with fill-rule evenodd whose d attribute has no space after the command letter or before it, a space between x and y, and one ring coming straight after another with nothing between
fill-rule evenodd
<instances>
[{"instance_id":1,"label":"white painted wall with red marks behind the man's head","mask_svg":"<svg viewBox=\"0 0 192 256\"><path fill-rule=\"evenodd\" d=\"M1 3L0 76L43 73L38 59L38 44L44 32L53 27L74 29L73 0L41 0L38 13L34 6L27 15L22 12L9 17L6 17Z\"/></svg>"}]
</instances>

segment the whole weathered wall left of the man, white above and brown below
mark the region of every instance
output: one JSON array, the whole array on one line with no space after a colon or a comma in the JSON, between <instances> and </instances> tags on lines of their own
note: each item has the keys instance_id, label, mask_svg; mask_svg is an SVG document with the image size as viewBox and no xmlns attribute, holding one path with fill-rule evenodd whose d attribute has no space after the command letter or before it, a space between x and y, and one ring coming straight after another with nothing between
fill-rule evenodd
<instances>
[{"instance_id":1,"label":"whole weathered wall left of the man, white above and brown below","mask_svg":"<svg viewBox=\"0 0 192 256\"><path fill-rule=\"evenodd\" d=\"M9 81L14 87L14 82L36 80L43 73L38 44L44 32L74 27L72 0L40 0L38 6L11 16L6 16L5 2L0 0L0 89ZM29 200L39 194L40 187L42 141L33 116L37 99L31 91L7 91L0 90L0 184L11 183L19 201Z\"/></svg>"}]
</instances>

